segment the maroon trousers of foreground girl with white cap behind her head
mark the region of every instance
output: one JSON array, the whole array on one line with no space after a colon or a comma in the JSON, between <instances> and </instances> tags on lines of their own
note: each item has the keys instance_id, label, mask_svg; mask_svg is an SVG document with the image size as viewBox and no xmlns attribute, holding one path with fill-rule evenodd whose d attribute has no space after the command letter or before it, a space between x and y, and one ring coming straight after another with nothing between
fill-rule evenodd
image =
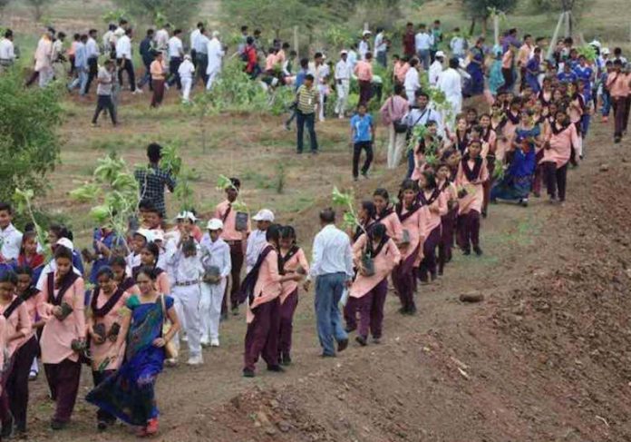
<instances>
[{"instance_id":1,"label":"maroon trousers of foreground girl with white cap behind her head","mask_svg":"<svg viewBox=\"0 0 631 442\"><path fill-rule=\"evenodd\" d=\"M57 403L53 419L68 422L79 392L81 362L63 359L59 364L44 364L44 371L51 396Z\"/></svg>"}]
</instances>

